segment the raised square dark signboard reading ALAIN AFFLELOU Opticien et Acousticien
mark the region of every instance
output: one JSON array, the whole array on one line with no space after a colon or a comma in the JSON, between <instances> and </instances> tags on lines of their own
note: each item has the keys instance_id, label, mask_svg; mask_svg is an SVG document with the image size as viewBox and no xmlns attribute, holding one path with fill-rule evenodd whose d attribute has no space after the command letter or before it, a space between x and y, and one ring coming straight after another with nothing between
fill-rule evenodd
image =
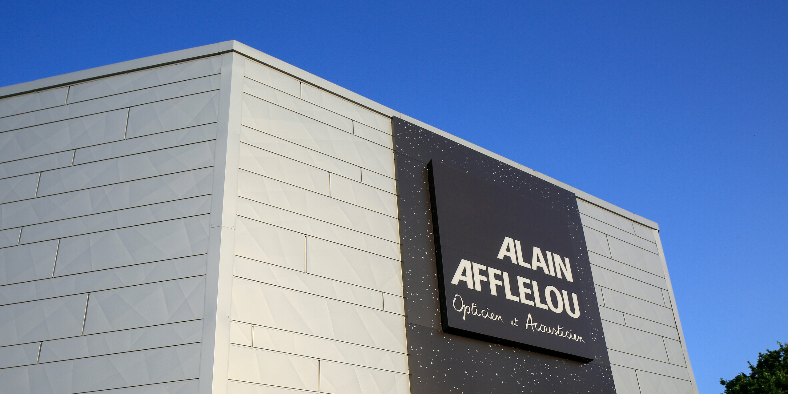
<instances>
[{"instance_id":1,"label":"raised square dark signboard reading ALAIN AFFLELOU Opticien et Acousticien","mask_svg":"<svg viewBox=\"0 0 788 394\"><path fill-rule=\"evenodd\" d=\"M444 331L593 359L566 214L440 163L429 183Z\"/></svg>"}]
</instances>

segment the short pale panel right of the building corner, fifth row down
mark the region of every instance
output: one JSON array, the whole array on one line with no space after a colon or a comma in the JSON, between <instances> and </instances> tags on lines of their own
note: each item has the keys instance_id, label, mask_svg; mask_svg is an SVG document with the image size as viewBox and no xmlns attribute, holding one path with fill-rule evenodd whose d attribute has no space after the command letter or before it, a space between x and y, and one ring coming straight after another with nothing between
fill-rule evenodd
<instances>
[{"instance_id":1,"label":"short pale panel right of the building corner, fifth row down","mask_svg":"<svg viewBox=\"0 0 788 394\"><path fill-rule=\"evenodd\" d=\"M329 195L328 171L242 143L239 167L299 188Z\"/></svg>"}]
</instances>

